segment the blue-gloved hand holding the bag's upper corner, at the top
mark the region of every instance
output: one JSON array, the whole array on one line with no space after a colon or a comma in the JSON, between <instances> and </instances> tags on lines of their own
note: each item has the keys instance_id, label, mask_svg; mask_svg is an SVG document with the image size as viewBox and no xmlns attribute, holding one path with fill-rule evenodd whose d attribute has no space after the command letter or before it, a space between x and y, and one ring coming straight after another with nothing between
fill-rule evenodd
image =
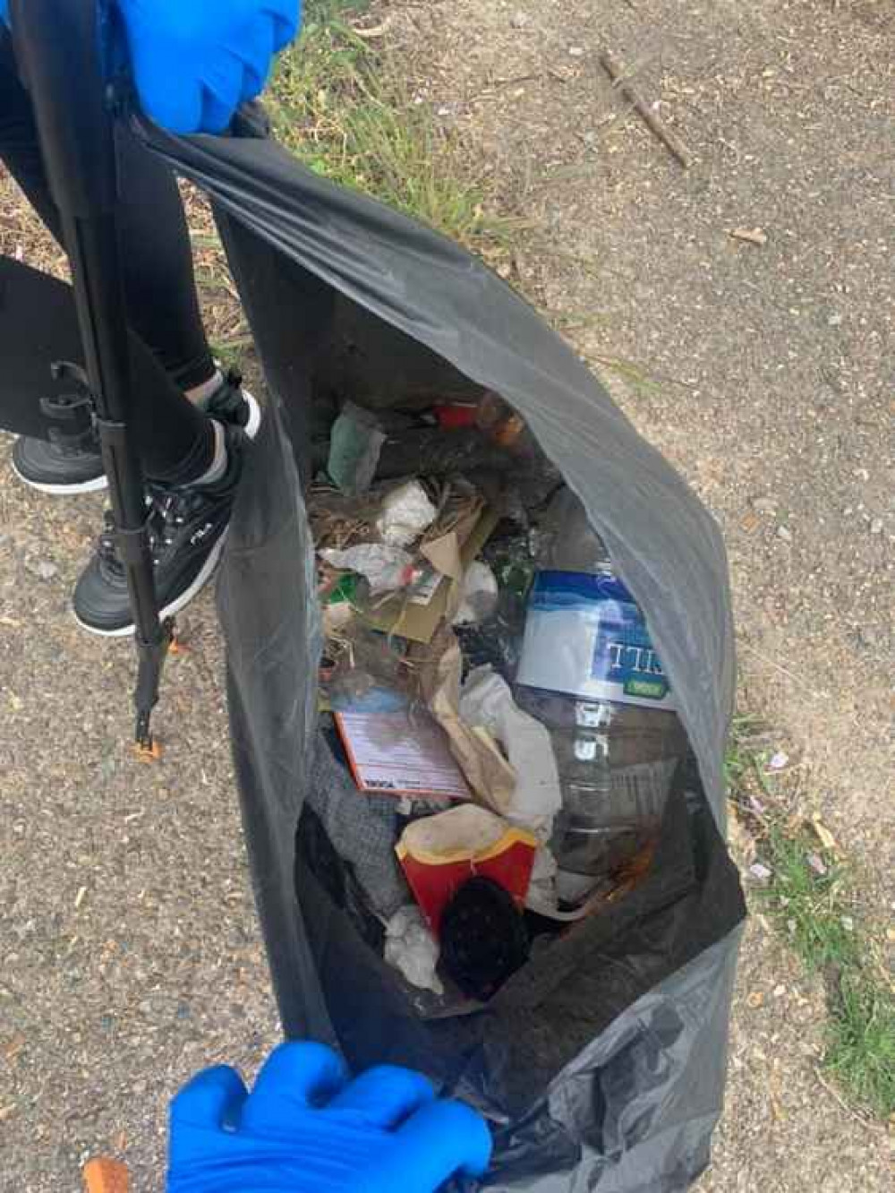
<instances>
[{"instance_id":1,"label":"blue-gloved hand holding the bag's upper corner, at the top","mask_svg":"<svg viewBox=\"0 0 895 1193\"><path fill-rule=\"evenodd\" d=\"M0 0L2 4L4 0ZM302 0L118 0L147 116L220 132L267 82L302 24Z\"/></svg>"}]
</instances>

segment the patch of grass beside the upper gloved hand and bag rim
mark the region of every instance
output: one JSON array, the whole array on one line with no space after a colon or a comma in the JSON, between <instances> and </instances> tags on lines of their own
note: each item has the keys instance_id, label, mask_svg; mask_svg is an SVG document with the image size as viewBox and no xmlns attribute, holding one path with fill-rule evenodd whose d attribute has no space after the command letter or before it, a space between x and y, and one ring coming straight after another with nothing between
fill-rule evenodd
<instances>
[{"instance_id":1,"label":"patch of grass beside the upper gloved hand and bag rim","mask_svg":"<svg viewBox=\"0 0 895 1193\"><path fill-rule=\"evenodd\" d=\"M379 38L356 24L366 6L311 0L267 99L278 141L317 173L361 190L492 259L512 221L489 215L485 190L428 101L411 93Z\"/></svg>"}]
</instances>

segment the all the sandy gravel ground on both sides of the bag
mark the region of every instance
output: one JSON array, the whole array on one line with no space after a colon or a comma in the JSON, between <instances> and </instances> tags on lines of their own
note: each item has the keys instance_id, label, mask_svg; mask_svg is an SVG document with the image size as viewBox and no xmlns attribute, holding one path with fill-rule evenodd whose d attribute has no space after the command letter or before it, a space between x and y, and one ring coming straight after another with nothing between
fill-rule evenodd
<instances>
[{"instance_id":1,"label":"all the sandy gravel ground on both sides of the bag","mask_svg":"<svg viewBox=\"0 0 895 1193\"><path fill-rule=\"evenodd\" d=\"M806 809L859 860L881 925L895 901L890 12L452 0L393 5L390 33L532 223L516 280L719 517L746 703L795 743ZM692 169L626 113L602 44L636 63ZM101 501L29 493L7 446L0 1189L74 1191L98 1150L157 1189L168 1095L201 1063L250 1069L276 1037L213 611L203 598L184 618L192 649L157 722L167 754L137 767L131 650L67 612ZM822 1020L820 991L753 920L702 1188L891 1188L891 1137L818 1076Z\"/></svg>"}]
</instances>

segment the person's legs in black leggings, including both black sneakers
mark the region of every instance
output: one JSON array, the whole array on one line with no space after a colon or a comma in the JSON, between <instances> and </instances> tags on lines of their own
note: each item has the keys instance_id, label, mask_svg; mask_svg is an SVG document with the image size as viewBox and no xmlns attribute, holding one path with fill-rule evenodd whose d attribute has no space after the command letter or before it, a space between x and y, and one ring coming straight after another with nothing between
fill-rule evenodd
<instances>
[{"instance_id":1,"label":"person's legs in black leggings, including both black sneakers","mask_svg":"<svg viewBox=\"0 0 895 1193\"><path fill-rule=\"evenodd\" d=\"M0 39L0 156L58 235L58 214L46 185L30 103L13 68L8 39ZM207 351L176 185L170 175L160 178L148 155L137 148L128 144L122 154L123 177L126 174L120 209L123 259L132 366L130 424L145 472L154 482L147 518L159 601L169 614L199 591L220 555L243 451L241 432L225 424L245 425L253 412L241 391L216 375ZM163 167L157 169L164 174ZM48 438L51 427L39 410L39 400L54 388L49 365L81 358L70 289L18 262L4 261L0 426ZM209 383L216 391L207 395L215 418L182 392L184 388L199 387L201 394ZM85 456L88 463L92 456L95 475L101 476L95 449L85 453L32 438L20 438L14 445L19 475L25 475L23 462L35 463L29 451L39 457L42 450L45 458L38 463L44 478L49 475L54 481L54 469L64 472L68 468L70 481L73 460L81 469ZM35 483L33 476L27 478ZM89 487L81 483L75 488ZM52 492L72 492L72 486L54 484ZM100 536L98 550L77 582L74 610L81 624L98 633L132 632L124 571L108 532Z\"/></svg>"}]
</instances>

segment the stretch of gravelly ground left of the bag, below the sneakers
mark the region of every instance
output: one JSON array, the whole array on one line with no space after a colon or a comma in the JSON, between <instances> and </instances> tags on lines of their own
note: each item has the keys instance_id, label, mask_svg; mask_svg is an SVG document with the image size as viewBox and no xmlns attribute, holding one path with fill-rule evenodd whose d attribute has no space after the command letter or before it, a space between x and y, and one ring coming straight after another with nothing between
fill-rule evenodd
<instances>
[{"instance_id":1,"label":"stretch of gravelly ground left of the bag, below the sneakers","mask_svg":"<svg viewBox=\"0 0 895 1193\"><path fill-rule=\"evenodd\" d=\"M4 444L5 449L6 444ZM135 761L130 644L81 632L70 588L101 500L0 465L0 1189L79 1187L126 1156L159 1189L168 1096L251 1068L276 1016L247 885L213 608L181 618L163 761Z\"/></svg>"}]
</instances>

